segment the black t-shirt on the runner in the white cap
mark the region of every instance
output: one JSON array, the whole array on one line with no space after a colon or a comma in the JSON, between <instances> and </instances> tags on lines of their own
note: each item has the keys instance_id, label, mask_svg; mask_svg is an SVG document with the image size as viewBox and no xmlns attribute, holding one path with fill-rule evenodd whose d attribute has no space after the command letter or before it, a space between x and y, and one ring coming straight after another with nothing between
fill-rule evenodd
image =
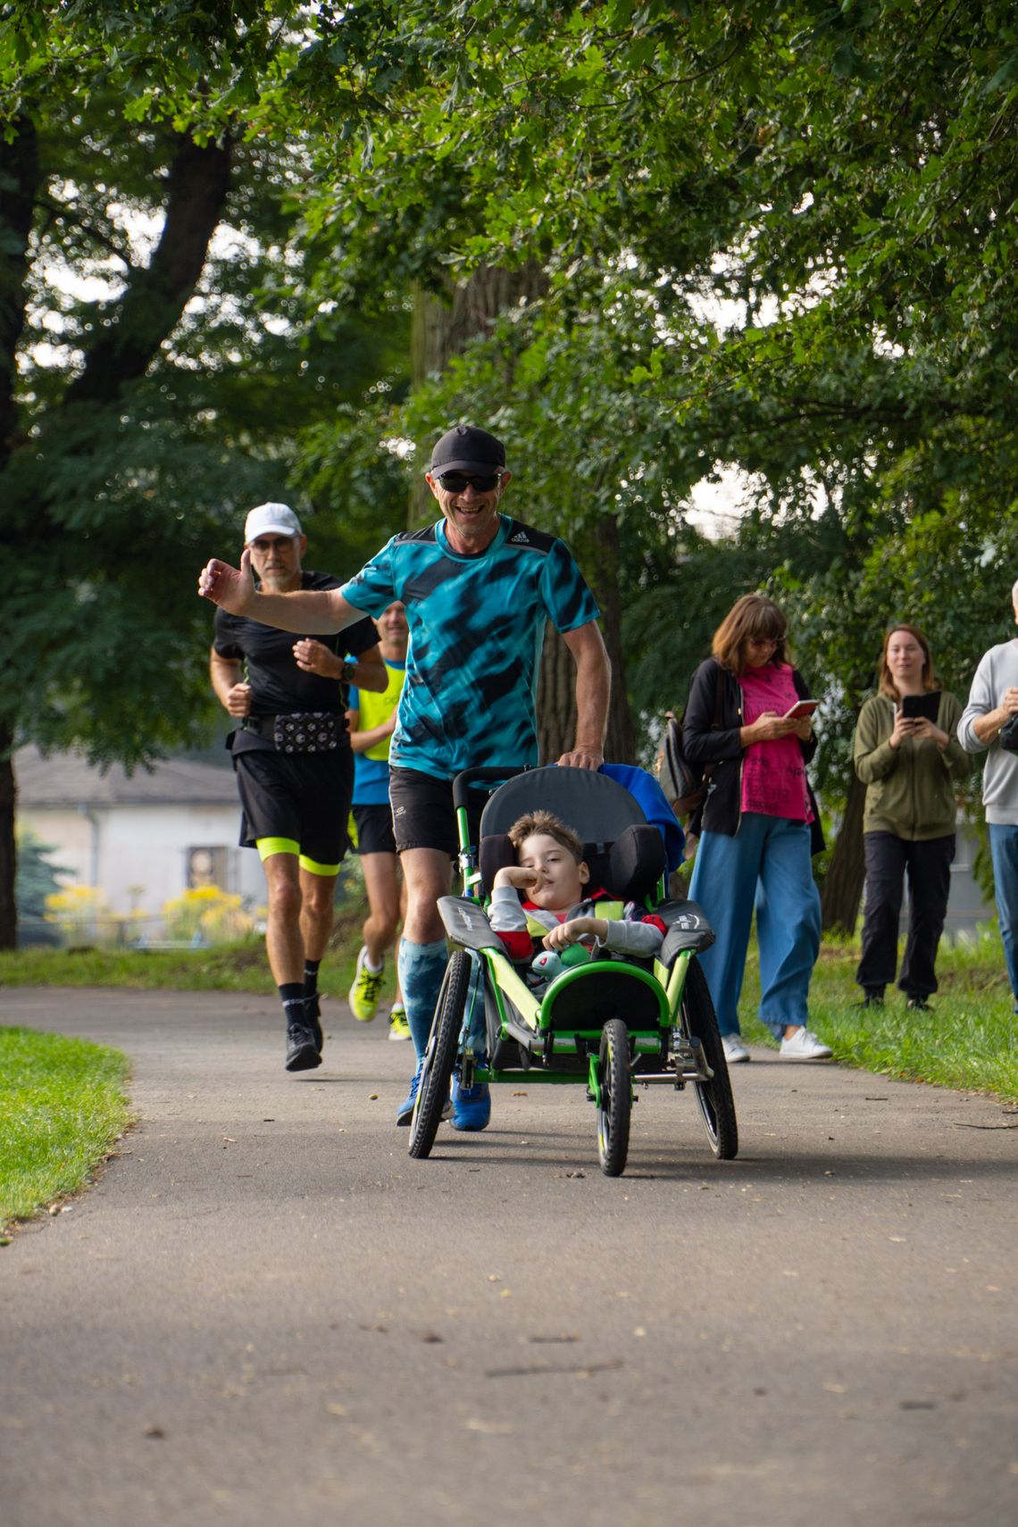
<instances>
[{"instance_id":1,"label":"black t-shirt on the runner in the white cap","mask_svg":"<svg viewBox=\"0 0 1018 1527\"><path fill-rule=\"evenodd\" d=\"M301 588L339 588L340 580L330 573L302 573ZM288 716L295 710L328 710L342 715L346 710L346 686L321 673L305 673L293 657L295 643L304 637L276 626L263 626L259 620L246 615L230 615L215 611L214 651L221 658L235 658L244 664L244 680L250 684L252 716ZM316 635L331 652L359 657L379 644L375 625L366 615L345 631L331 635ZM272 742L256 733L238 733L237 742L244 747L272 747ZM237 744L234 747L237 750Z\"/></svg>"}]
</instances>

